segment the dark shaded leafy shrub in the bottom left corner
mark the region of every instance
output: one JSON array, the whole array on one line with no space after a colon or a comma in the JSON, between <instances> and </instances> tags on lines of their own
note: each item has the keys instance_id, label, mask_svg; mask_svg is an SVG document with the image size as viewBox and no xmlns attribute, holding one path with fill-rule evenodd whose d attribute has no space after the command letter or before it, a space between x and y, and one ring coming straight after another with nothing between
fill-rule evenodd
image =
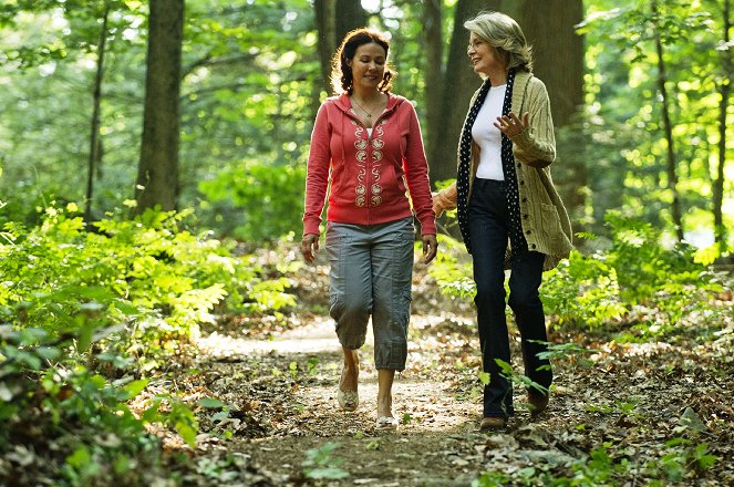
<instances>
[{"instance_id":1,"label":"dark shaded leafy shrub in the bottom left corner","mask_svg":"<svg viewBox=\"0 0 734 487\"><path fill-rule=\"evenodd\" d=\"M159 413L157 404L148 419L133 415L126 403L147 381L127 375L110 382L94 373L80 360L82 342L74 332L52 339L38 328L0 327L0 479L18 485L48 476L58 477L55 485L148 484L136 467L159 462L159 441L144 424L167 423L169 415ZM45 460L25 465L18 459L22 452Z\"/></svg>"}]
</instances>

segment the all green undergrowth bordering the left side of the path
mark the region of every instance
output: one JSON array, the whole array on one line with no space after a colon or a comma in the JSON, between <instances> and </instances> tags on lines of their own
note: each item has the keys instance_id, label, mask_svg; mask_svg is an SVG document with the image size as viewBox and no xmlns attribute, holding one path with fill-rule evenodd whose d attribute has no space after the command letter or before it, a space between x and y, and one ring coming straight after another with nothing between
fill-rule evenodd
<instances>
[{"instance_id":1,"label":"all green undergrowth bordering the left side of the path","mask_svg":"<svg viewBox=\"0 0 734 487\"><path fill-rule=\"evenodd\" d=\"M148 485L138 468L159 467L161 454L145 426L170 426L193 446L197 421L175 393L136 414L128 402L170 354L194 351L215 308L272 313L293 297L255 256L186 229L190 211L117 216L94 231L73 204L40 218L0 234L0 450L46 455L58 444L66 485Z\"/></svg>"}]
</instances>

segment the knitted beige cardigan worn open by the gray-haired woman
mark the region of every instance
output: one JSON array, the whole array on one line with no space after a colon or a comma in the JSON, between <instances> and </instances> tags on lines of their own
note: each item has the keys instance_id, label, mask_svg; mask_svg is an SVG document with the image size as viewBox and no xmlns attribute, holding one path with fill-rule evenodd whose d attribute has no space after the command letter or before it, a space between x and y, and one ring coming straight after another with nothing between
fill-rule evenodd
<instances>
[{"instance_id":1,"label":"knitted beige cardigan worn open by the gray-haired woman","mask_svg":"<svg viewBox=\"0 0 734 487\"><path fill-rule=\"evenodd\" d=\"M472 96L474 104L479 91ZM518 72L513 87L513 112L530 114L529 127L511 137L517 167L517 187L520 194L523 232L528 248L546 255L544 270L558 266L568 258L571 245L571 222L566 207L550 177L550 164L556 159L556 137L550 115L550 100L542 81L527 72ZM494 122L494 121L493 121ZM479 164L479 147L472 143L469 196ZM456 208L456 183L434 196L436 216L445 209ZM479 245L476 242L475 245ZM509 244L505 267L509 268Z\"/></svg>"}]
</instances>

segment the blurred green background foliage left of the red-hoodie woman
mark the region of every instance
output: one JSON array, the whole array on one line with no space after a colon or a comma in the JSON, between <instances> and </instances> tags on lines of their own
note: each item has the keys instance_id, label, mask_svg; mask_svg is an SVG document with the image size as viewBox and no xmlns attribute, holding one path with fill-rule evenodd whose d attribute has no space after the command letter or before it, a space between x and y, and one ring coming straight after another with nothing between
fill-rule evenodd
<instances>
[{"instance_id":1,"label":"blurred green background foliage left of the red-hoodie woman","mask_svg":"<svg viewBox=\"0 0 734 487\"><path fill-rule=\"evenodd\" d=\"M52 199L83 207L102 3L21 1L13 8L18 14L0 17L0 85L6 87L0 194L14 220L33 218L29 208ZM102 157L94 178L99 218L134 193L147 42L147 6L108 3L113 22L102 85ZM220 234L247 227L221 215L241 216L250 201L231 186L200 193L200 183L216 184L242 167L303 167L319 96L311 93L319 72L312 17L306 0L288 6L186 2L179 204L196 207L199 221ZM303 187L302 178L281 183L287 183L282 194ZM285 221L298 222L301 206L302 199L289 206L286 215L293 217ZM269 228L267 236L279 237L282 227Z\"/></svg>"}]
</instances>

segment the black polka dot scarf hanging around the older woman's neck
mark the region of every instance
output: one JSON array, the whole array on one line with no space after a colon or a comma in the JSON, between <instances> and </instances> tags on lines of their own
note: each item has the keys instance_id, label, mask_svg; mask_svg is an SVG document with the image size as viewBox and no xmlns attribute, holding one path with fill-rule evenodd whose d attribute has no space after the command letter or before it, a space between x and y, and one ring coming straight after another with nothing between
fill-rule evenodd
<instances>
[{"instance_id":1,"label":"black polka dot scarf hanging around the older woman's neck","mask_svg":"<svg viewBox=\"0 0 734 487\"><path fill-rule=\"evenodd\" d=\"M507 73L507 89L503 102L503 115L507 115L513 105L513 84L515 83L515 70ZM457 206L458 206L458 228L464 238L466 250L472 253L472 239L469 237L469 216L468 216L468 196L469 196L469 170L472 168L472 126L476 121L479 108L492 87L487 79L479 93L469 108L462 129L462 138L458 149L458 173L456 175ZM513 141L505 134L502 136L502 163L505 174L505 188L507 195L507 209L510 219L509 241L513 248L513 256L517 256L527 249L527 241L523 236L523 225L520 222L520 196L517 188L517 174L515 173L515 157L513 156Z\"/></svg>"}]
</instances>

